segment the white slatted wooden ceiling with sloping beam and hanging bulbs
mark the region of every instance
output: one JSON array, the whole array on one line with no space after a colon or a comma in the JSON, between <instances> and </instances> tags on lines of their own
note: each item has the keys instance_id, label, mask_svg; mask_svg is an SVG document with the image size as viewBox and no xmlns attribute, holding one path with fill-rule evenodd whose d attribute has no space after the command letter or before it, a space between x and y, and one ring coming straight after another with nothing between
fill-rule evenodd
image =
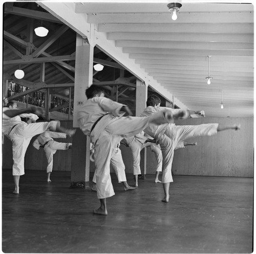
<instances>
[{"instance_id":1,"label":"white slatted wooden ceiling with sloping beam and hanging bulbs","mask_svg":"<svg viewBox=\"0 0 256 254\"><path fill-rule=\"evenodd\" d=\"M221 2L179 1L175 21L169 1L40 5L179 107L253 117L253 5Z\"/></svg>"}]
</instances>

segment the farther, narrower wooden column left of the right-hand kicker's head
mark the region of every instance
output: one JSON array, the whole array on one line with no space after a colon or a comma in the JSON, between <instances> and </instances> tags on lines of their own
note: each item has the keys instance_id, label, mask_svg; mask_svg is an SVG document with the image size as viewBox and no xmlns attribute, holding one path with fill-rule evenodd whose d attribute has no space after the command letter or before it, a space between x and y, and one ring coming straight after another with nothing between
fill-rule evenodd
<instances>
[{"instance_id":1,"label":"farther, narrower wooden column left of the right-hand kicker's head","mask_svg":"<svg viewBox=\"0 0 256 254\"><path fill-rule=\"evenodd\" d=\"M147 100L147 86L144 82L137 79L136 81L136 117L140 117L140 114L146 107ZM142 149L140 152L140 169L141 174L146 174L146 149Z\"/></svg>"}]
</instances>

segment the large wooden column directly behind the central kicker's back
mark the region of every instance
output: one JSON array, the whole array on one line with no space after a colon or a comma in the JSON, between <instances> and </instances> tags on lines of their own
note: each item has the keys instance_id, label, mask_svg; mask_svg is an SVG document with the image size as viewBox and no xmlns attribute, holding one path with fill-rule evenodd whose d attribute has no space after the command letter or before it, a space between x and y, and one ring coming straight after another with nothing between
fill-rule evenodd
<instances>
[{"instance_id":1,"label":"large wooden column directly behind the central kicker's back","mask_svg":"<svg viewBox=\"0 0 256 254\"><path fill-rule=\"evenodd\" d=\"M87 101L86 89L93 83L93 45L80 35L76 37L76 63L74 88L73 137L71 187L89 187L90 180L90 137L78 128L77 113Z\"/></svg>"}]
</instances>

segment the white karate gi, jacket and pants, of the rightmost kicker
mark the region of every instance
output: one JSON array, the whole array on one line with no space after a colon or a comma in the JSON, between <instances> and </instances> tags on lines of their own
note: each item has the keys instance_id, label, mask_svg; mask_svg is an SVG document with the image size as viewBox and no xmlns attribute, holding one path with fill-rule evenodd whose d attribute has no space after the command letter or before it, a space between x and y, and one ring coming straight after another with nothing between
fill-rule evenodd
<instances>
[{"instance_id":1,"label":"white karate gi, jacket and pants, of the rightmost kicker","mask_svg":"<svg viewBox=\"0 0 256 254\"><path fill-rule=\"evenodd\" d=\"M172 109L167 107L152 107L148 106L141 113L141 116L151 116L161 110L178 111L180 109ZM163 175L162 182L173 182L172 163L174 150L177 145L191 137L196 136L211 136L217 133L219 124L200 124L200 125L175 125L162 124L161 126L150 125L143 131L156 139L161 147L163 155Z\"/></svg>"}]
</instances>

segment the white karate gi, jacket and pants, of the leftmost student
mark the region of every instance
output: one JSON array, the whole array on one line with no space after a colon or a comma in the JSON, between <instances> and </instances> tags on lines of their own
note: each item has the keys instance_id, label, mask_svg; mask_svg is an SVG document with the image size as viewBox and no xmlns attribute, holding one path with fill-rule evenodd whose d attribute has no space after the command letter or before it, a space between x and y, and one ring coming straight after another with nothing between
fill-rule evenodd
<instances>
[{"instance_id":1,"label":"white karate gi, jacket and pants, of the leftmost student","mask_svg":"<svg viewBox=\"0 0 256 254\"><path fill-rule=\"evenodd\" d=\"M19 116L8 117L5 114L6 110L9 108L3 108L3 133L12 141L12 175L24 175L24 158L31 138L49 128L56 130L58 121L27 124ZM22 116L26 117L25 114Z\"/></svg>"}]
</instances>

